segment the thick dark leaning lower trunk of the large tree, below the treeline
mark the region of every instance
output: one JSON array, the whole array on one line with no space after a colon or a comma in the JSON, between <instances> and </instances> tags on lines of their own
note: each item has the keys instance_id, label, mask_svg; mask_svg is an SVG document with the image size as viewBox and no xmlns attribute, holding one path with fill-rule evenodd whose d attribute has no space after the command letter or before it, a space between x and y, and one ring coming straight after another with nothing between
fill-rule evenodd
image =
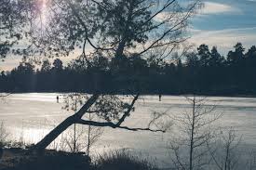
<instances>
[{"instance_id":1,"label":"thick dark leaning lower trunk of the large tree, below the treeline","mask_svg":"<svg viewBox=\"0 0 256 170\"><path fill-rule=\"evenodd\" d=\"M46 137L44 137L41 141L39 141L35 146L35 150L45 150L47 146L55 140L57 137L61 135L70 125L75 124L81 120L83 115L88 111L88 109L93 105L93 103L99 98L99 95L92 95L87 101L87 103L74 115L65 119L61 124L55 127L52 131L50 131Z\"/></svg>"}]
</instances>

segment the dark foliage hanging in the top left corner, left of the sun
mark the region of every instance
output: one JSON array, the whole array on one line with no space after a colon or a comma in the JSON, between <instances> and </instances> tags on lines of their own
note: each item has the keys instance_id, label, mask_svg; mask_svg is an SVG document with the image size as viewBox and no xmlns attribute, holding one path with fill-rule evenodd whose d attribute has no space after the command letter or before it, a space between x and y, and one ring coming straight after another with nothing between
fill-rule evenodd
<instances>
[{"instance_id":1,"label":"dark foliage hanging in the top left corner, left of the sun","mask_svg":"<svg viewBox=\"0 0 256 170\"><path fill-rule=\"evenodd\" d=\"M34 0L1 0L0 2L0 59L8 53L26 55L25 41L32 42L32 21L40 15ZM20 47L17 46L22 44ZM29 45L27 45L29 46Z\"/></svg>"}]
</instances>

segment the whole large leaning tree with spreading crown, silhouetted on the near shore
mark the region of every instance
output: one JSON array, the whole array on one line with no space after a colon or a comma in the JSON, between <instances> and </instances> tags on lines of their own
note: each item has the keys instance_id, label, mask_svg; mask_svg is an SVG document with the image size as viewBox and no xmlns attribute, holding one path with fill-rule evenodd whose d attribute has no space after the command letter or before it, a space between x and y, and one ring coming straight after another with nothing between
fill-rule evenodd
<instances>
[{"instance_id":1,"label":"whole large leaning tree with spreading crown, silhouetted on the near shore","mask_svg":"<svg viewBox=\"0 0 256 170\"><path fill-rule=\"evenodd\" d=\"M166 49L169 53L184 42L186 38L183 37L182 31L188 25L188 19L195 14L198 5L199 1L189 1L188 4L179 5L175 0L158 3L151 0L49 2L48 15L54 17L49 17L50 20L45 28L47 32L44 36L36 33L33 35L41 42L38 51L43 51L46 56L58 57L68 56L75 48L81 47L81 56L87 62L92 95L80 110L54 128L34 148L44 150L72 124L110 126L134 131L164 131L152 129L150 126L147 128L122 126L141 94L141 85L144 85L143 80L138 78L141 69L137 65L142 64L138 61L154 53L156 49ZM50 11L54 12L50 13ZM165 17L158 19L162 14L165 14ZM92 48L90 54L86 53L88 46ZM104 58L115 63L115 67L110 64L109 67L103 66L102 69L101 66L99 71L99 64L105 64L107 61ZM159 56L156 54L155 59L157 58ZM131 63L136 64L130 65ZM94 66L98 67L97 71L93 70ZM114 96L113 94L118 92L117 89L113 89L111 93L101 91L105 83L102 81L105 80L102 75L108 69L109 75L114 77L112 81L121 84L120 90L132 94L131 103L123 103ZM129 71L133 73L132 76L129 76L131 75ZM58 85L60 82L58 81ZM126 82L128 84L125 85ZM106 122L83 119L88 111L100 116Z\"/></svg>"}]
</instances>

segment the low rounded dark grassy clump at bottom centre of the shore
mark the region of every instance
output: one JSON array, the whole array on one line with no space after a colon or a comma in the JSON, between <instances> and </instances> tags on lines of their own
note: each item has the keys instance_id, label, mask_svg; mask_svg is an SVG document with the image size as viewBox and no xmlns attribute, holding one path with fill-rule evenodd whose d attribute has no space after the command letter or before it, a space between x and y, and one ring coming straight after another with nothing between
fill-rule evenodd
<instances>
[{"instance_id":1,"label":"low rounded dark grassy clump at bottom centre of the shore","mask_svg":"<svg viewBox=\"0 0 256 170\"><path fill-rule=\"evenodd\" d=\"M97 170L158 170L158 168L147 162L141 160L138 156L132 156L128 152L113 151L109 154L100 156L96 162Z\"/></svg>"}]
</instances>

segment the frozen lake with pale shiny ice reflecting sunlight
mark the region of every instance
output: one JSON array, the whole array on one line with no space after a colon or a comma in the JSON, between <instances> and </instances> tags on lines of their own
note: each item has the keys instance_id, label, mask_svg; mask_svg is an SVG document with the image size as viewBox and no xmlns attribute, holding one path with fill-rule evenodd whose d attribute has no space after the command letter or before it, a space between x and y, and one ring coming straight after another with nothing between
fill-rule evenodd
<instances>
[{"instance_id":1,"label":"frozen lake with pale shiny ice reflecting sunlight","mask_svg":"<svg viewBox=\"0 0 256 170\"><path fill-rule=\"evenodd\" d=\"M4 100L1 99L0 122L3 121L7 127L9 138L35 143L71 115L72 111L61 109L63 104L56 102L57 95L13 94ZM208 104L216 105L217 112L222 112L222 118L215 125L233 127L236 135L242 137L241 146L249 150L255 149L256 98L210 97L208 100ZM168 111L172 115L179 115L182 111L190 109L189 107L183 97L163 96L162 101L158 101L158 96L143 96L136 103L135 111L128 117L126 125L145 127L152 111ZM169 162L167 146L171 134L171 129L169 133L162 134L105 128L92 151L97 154L106 150L136 150L151 159L156 158L157 163L165 164Z\"/></svg>"}]
</instances>

